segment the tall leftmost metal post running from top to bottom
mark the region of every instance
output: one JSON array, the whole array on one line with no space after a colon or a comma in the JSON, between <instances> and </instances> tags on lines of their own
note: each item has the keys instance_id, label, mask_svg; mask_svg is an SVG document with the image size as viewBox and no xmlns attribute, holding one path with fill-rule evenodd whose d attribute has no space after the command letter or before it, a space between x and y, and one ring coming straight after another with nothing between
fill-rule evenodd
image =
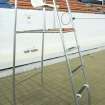
<instances>
[{"instance_id":1,"label":"tall leftmost metal post running from top to bottom","mask_svg":"<svg viewBox=\"0 0 105 105\"><path fill-rule=\"evenodd\" d=\"M13 36L13 105L16 105L16 81L15 81L15 65L16 65L16 25L17 25L17 0L15 0L14 9L14 36Z\"/></svg>"}]
</instances>

